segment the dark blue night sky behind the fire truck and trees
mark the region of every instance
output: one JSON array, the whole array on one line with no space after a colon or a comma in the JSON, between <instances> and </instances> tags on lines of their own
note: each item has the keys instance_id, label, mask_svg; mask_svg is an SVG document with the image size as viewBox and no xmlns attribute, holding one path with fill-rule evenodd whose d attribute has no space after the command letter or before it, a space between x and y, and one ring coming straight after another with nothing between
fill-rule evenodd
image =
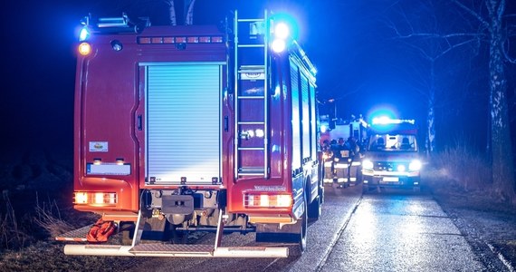
<instances>
[{"instance_id":1,"label":"dark blue night sky behind the fire truck and trees","mask_svg":"<svg viewBox=\"0 0 516 272\"><path fill-rule=\"evenodd\" d=\"M88 13L119 16L122 11L127 11L124 9L130 8L129 2L9 1L0 10L3 63L0 116L4 144L20 149L36 145L72 151L74 43L80 20ZM216 23L234 7L270 6L275 11L288 11L298 21L301 46L318 68L321 102L336 98L338 115L344 118L350 114L368 117L375 109L387 107L401 118L424 120L426 101L421 94L424 80L420 78L428 71L427 63L413 48L394 39L394 32L388 25L396 24L400 30L409 29L404 21L407 17L414 19L425 15L423 5L417 3L432 1L269 2L271 4L265 1L197 0L195 24ZM395 2L401 5L393 6ZM507 2L511 9L514 4ZM159 5L138 11L148 13L153 24L159 24L167 17ZM438 13L438 17L448 16L447 11L438 10ZM457 26L461 29L474 28L475 23L464 22L454 20L449 25L441 22L448 28L440 29L449 31L457 24L461 24ZM451 95L446 96L448 103L440 103L441 108L437 108L446 109L442 111L446 112L443 116L438 116L444 128L450 126L443 121L447 118L462 123L464 111L471 111L468 114L479 121L464 121L458 131L474 131L476 125L486 123L485 49L485 44L480 44L479 53L472 57L474 50L463 47L435 62L436 86ZM465 66L469 67L467 71L463 69ZM515 80L513 66L510 88L514 87ZM466 87L463 86L465 81L469 83ZM456 97L452 95L463 89L469 91L457 91ZM513 93L514 89L509 92Z\"/></svg>"}]
</instances>

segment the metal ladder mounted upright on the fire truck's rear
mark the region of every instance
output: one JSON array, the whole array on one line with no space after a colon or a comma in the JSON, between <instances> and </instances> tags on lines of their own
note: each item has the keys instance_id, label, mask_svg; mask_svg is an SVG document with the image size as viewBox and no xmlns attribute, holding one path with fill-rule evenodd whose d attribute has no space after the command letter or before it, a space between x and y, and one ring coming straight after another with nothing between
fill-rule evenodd
<instances>
[{"instance_id":1,"label":"metal ladder mounted upright on the fire truck's rear","mask_svg":"<svg viewBox=\"0 0 516 272\"><path fill-rule=\"evenodd\" d=\"M269 174L268 13L240 18L234 13L234 177ZM253 159L250 159L253 158Z\"/></svg>"}]
</instances>

